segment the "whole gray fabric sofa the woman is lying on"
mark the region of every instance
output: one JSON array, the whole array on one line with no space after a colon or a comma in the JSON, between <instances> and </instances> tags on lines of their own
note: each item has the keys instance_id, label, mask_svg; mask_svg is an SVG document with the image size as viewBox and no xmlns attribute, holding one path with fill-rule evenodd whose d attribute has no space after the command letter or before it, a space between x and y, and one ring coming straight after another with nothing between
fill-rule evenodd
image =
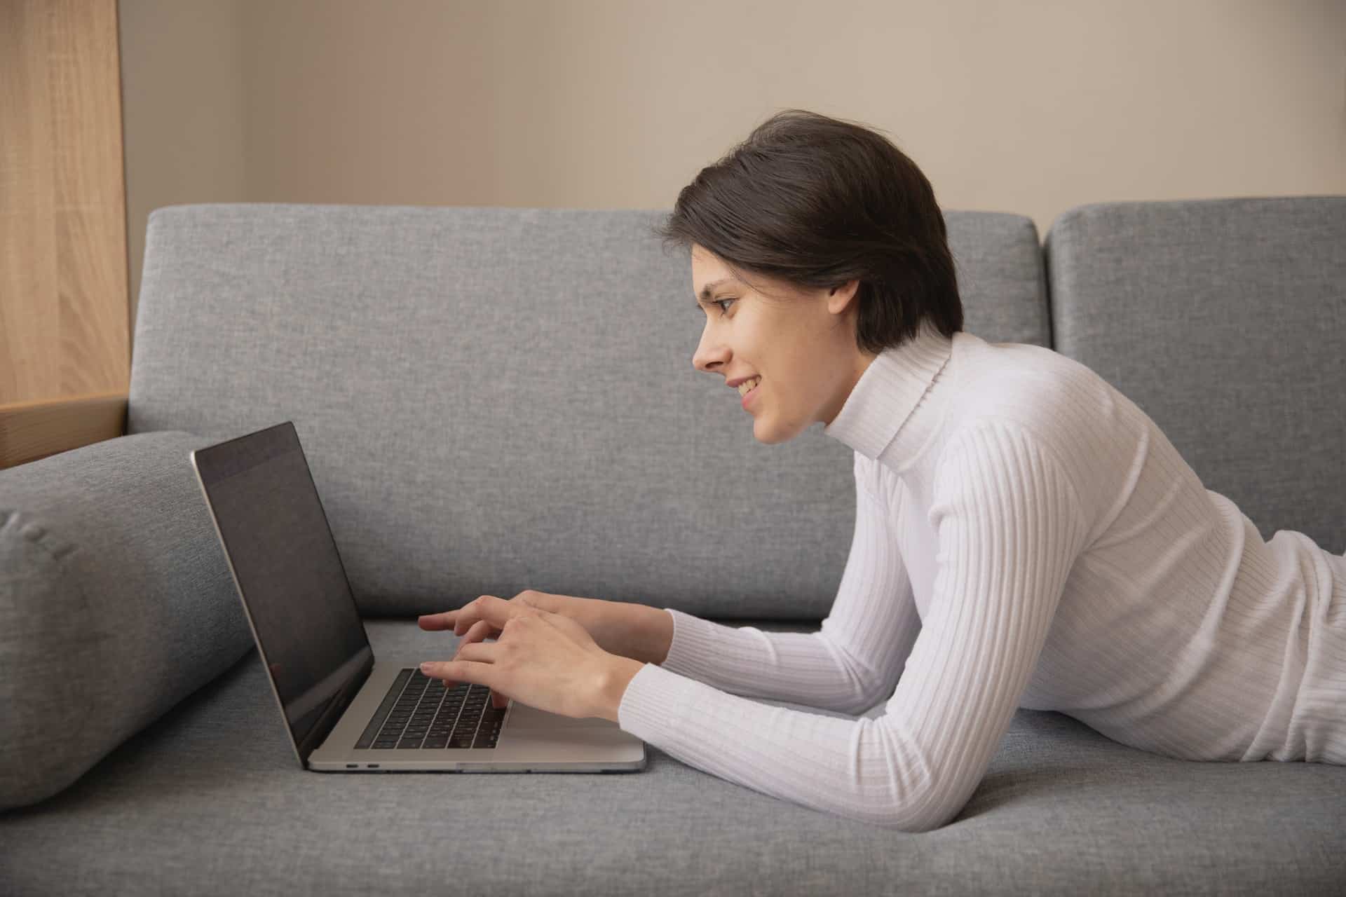
<instances>
[{"instance_id":1,"label":"whole gray fabric sofa the woman is lying on","mask_svg":"<svg viewBox=\"0 0 1346 897\"><path fill-rule=\"evenodd\" d=\"M923 834L657 745L629 775L300 769L187 459L272 424L376 654L448 658L416 615L530 588L826 616L852 455L756 444L693 370L664 214L151 215L125 434L0 471L0 893L1342 893L1346 768L1179 761L1058 713L1018 711ZM1346 196L1090 204L1044 243L946 221L965 329L1088 364L1264 538L1346 550Z\"/></svg>"}]
</instances>

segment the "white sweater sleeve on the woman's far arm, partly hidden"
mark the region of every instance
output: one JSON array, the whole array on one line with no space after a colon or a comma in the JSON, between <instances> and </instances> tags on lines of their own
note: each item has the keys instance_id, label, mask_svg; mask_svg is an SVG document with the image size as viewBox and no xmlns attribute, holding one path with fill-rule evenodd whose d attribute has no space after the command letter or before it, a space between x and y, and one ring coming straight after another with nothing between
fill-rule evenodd
<instances>
[{"instance_id":1,"label":"white sweater sleeve on the woman's far arm, partly hidden","mask_svg":"<svg viewBox=\"0 0 1346 897\"><path fill-rule=\"evenodd\" d=\"M849 714L892 694L921 617L874 468L856 453L851 554L821 631L765 632L664 608L673 641L660 666L723 691Z\"/></svg>"}]
</instances>

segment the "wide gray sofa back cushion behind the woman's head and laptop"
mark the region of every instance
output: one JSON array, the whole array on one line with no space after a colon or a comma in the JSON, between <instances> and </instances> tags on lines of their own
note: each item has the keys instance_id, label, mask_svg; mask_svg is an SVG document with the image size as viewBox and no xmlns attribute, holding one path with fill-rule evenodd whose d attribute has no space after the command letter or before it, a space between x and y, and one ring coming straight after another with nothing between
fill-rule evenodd
<instances>
[{"instance_id":1,"label":"wide gray sofa back cushion behind the woman's head and laptop","mask_svg":"<svg viewBox=\"0 0 1346 897\"><path fill-rule=\"evenodd\" d=\"M524 589L820 619L851 449L752 438L692 367L662 211L207 204L149 217L128 430L295 422L367 615ZM948 212L969 319L1047 339L1031 219ZM751 546L751 551L743 550Z\"/></svg>"}]
</instances>

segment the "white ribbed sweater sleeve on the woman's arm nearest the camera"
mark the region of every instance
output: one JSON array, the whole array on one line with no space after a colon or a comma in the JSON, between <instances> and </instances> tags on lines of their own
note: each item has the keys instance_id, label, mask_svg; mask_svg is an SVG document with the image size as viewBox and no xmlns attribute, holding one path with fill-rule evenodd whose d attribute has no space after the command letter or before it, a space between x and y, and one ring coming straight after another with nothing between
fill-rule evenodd
<instances>
[{"instance_id":1,"label":"white ribbed sweater sleeve on the woman's arm nearest the camera","mask_svg":"<svg viewBox=\"0 0 1346 897\"><path fill-rule=\"evenodd\" d=\"M933 594L884 715L762 705L646 663L618 725L814 810L900 831L950 822L1010 726L1089 522L1055 457L1010 422L952 437L933 485Z\"/></svg>"}]
</instances>

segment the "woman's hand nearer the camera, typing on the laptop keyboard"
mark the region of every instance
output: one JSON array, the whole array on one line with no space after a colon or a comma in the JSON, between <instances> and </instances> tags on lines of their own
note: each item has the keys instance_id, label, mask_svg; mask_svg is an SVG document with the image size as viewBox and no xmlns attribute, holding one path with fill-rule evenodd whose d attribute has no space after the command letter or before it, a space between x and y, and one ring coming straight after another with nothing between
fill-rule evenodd
<instances>
[{"instance_id":1,"label":"woman's hand nearer the camera, typing on the laptop keyboard","mask_svg":"<svg viewBox=\"0 0 1346 897\"><path fill-rule=\"evenodd\" d=\"M421 672L446 685L487 686L503 706L513 698L563 717L599 717L612 659L569 617L483 594L471 602L479 623L499 631L494 643L462 643L452 660L427 662ZM451 612L452 613L452 612ZM475 628L476 624L474 624Z\"/></svg>"}]
</instances>

